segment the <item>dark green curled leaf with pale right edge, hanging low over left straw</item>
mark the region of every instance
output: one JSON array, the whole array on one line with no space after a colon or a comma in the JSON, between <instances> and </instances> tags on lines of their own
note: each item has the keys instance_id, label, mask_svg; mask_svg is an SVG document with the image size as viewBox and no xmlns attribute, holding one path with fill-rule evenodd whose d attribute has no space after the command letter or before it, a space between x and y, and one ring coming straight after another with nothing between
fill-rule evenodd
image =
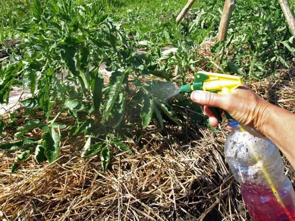
<instances>
[{"instance_id":1,"label":"dark green curled leaf with pale right edge, hanging low over left straw","mask_svg":"<svg viewBox=\"0 0 295 221\"><path fill-rule=\"evenodd\" d=\"M42 145L45 148L45 156L49 163L52 163L59 157L59 134L55 132L54 128L51 128L51 130L42 135L42 139Z\"/></svg>"}]
</instances>

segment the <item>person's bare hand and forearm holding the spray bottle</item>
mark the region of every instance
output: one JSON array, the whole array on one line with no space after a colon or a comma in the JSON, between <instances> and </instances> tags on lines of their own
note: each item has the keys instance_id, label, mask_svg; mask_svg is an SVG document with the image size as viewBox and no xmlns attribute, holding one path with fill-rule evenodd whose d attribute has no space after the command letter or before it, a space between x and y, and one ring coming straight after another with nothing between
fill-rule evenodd
<instances>
[{"instance_id":1,"label":"person's bare hand and forearm holding the spray bottle","mask_svg":"<svg viewBox=\"0 0 295 221\"><path fill-rule=\"evenodd\" d=\"M218 119L209 107L225 110L240 124L253 127L272 140L295 168L295 114L292 112L266 102L246 86L226 95L193 91L191 99L204 106L211 126L216 127Z\"/></svg>"}]
</instances>

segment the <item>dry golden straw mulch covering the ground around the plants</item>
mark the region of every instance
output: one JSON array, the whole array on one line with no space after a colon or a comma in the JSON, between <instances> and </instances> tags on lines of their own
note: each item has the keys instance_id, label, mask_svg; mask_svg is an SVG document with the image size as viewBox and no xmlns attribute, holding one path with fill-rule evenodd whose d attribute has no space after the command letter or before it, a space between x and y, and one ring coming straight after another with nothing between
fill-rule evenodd
<instances>
[{"instance_id":1,"label":"dry golden straw mulch covering the ground around the plants","mask_svg":"<svg viewBox=\"0 0 295 221\"><path fill-rule=\"evenodd\" d=\"M295 111L295 70L249 85L270 102ZM61 116L62 119L63 116ZM68 119L64 116L64 121ZM246 208L224 161L225 125L214 132L166 121L151 125L140 141L128 138L134 155L113 150L103 174L99 157L84 160L84 137L62 140L56 164L29 159L17 174L15 154L0 152L0 218L3 220L248 220ZM286 163L294 183L295 172Z\"/></svg>"}]
</instances>

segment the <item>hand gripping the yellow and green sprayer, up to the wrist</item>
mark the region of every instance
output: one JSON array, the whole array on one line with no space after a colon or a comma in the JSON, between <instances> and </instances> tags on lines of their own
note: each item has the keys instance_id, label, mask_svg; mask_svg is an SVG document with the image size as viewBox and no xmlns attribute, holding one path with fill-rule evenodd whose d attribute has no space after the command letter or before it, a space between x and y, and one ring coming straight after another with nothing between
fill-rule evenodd
<instances>
[{"instance_id":1,"label":"hand gripping the yellow and green sprayer, up to the wrist","mask_svg":"<svg viewBox=\"0 0 295 221\"><path fill-rule=\"evenodd\" d=\"M191 100L204 106L204 113L213 127L218 125L218 119L209 107L227 111L240 124L252 126L259 131L266 120L269 107L272 106L246 86L240 86L226 95L196 90L191 93Z\"/></svg>"}]
</instances>

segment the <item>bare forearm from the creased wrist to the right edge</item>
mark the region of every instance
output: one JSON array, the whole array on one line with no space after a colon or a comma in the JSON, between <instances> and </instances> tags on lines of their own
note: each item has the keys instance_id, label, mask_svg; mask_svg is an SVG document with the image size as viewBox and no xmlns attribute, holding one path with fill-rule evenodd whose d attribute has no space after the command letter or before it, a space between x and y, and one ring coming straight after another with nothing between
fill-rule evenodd
<instances>
[{"instance_id":1,"label":"bare forearm from the creased wrist to the right edge","mask_svg":"<svg viewBox=\"0 0 295 221\"><path fill-rule=\"evenodd\" d=\"M295 114L268 106L259 130L282 151L295 169Z\"/></svg>"}]
</instances>

